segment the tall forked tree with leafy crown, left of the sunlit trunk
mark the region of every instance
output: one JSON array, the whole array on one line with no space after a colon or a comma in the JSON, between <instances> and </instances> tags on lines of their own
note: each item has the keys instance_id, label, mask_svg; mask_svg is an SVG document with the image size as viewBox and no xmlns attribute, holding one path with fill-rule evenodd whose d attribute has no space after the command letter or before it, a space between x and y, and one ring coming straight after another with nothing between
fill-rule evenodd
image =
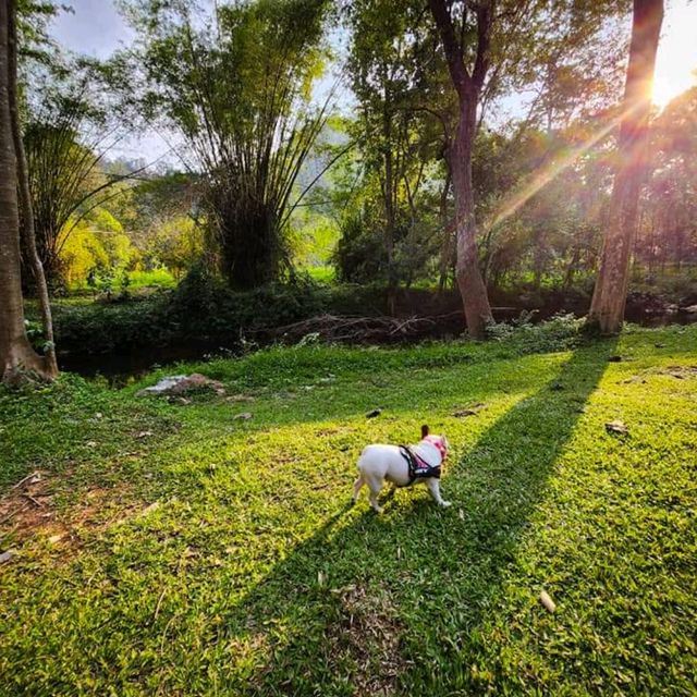
<instances>
[{"instance_id":1,"label":"tall forked tree with leafy crown, left of the sunlit trunk","mask_svg":"<svg viewBox=\"0 0 697 697\"><path fill-rule=\"evenodd\" d=\"M525 87L548 97L537 101L531 115L542 109L550 127L560 117L568 119L578 111L576 98L550 110L550 100L558 101L553 93L563 95L560 87L565 81L560 80L577 72L579 56L594 45L604 45L599 37L609 36L609 22L623 13L625 4L625 0L429 0L457 98L457 125L447 156L455 199L457 282L467 327L475 337L484 334L491 317L477 264L472 172L477 129L498 98Z\"/></svg>"}]
</instances>

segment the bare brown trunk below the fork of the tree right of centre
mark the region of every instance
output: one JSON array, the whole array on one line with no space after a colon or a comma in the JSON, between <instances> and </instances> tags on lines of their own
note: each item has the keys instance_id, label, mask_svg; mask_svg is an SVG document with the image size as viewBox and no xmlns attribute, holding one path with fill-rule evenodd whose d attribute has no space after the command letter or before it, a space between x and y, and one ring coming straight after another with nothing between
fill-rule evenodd
<instances>
[{"instance_id":1,"label":"bare brown trunk below the fork of the tree right of centre","mask_svg":"<svg viewBox=\"0 0 697 697\"><path fill-rule=\"evenodd\" d=\"M477 225L472 183L472 149L476 129L477 99L460 99L460 123L450 152L450 168L455 197L455 234L457 240L456 277L465 308L467 330L474 339L484 339L491 307L479 270Z\"/></svg>"}]
</instances>

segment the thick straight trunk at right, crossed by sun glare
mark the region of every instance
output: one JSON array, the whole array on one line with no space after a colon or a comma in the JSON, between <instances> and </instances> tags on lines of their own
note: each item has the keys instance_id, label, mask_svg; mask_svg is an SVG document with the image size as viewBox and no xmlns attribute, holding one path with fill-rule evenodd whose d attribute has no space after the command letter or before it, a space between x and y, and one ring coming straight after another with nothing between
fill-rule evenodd
<instances>
[{"instance_id":1,"label":"thick straight trunk at right, crossed by sun glare","mask_svg":"<svg viewBox=\"0 0 697 697\"><path fill-rule=\"evenodd\" d=\"M662 21L663 0L634 0L617 167L600 268L588 314L588 323L606 334L619 332L624 319L629 257L645 178L651 83Z\"/></svg>"}]
</instances>

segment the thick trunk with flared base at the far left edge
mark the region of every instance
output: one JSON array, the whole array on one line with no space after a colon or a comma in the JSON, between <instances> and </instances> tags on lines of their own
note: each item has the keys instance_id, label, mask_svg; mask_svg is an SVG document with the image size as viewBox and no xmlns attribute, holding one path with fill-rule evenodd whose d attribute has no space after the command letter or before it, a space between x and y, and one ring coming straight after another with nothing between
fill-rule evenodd
<instances>
[{"instance_id":1,"label":"thick trunk with flared base at the far left edge","mask_svg":"<svg viewBox=\"0 0 697 697\"><path fill-rule=\"evenodd\" d=\"M0 0L0 379L19 370L50 377L46 360L29 344L24 326L24 302L20 278L20 215L17 169L10 111L16 81L10 59L13 0Z\"/></svg>"}]
</instances>

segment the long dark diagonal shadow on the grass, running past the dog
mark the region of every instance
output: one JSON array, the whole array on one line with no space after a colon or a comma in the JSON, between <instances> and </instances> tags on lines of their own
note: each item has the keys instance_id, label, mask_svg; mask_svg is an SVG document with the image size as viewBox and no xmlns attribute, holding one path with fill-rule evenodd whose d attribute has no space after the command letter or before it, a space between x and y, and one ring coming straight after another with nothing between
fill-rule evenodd
<instances>
[{"instance_id":1,"label":"long dark diagonal shadow on the grass, running past the dog","mask_svg":"<svg viewBox=\"0 0 697 697\"><path fill-rule=\"evenodd\" d=\"M496 612L502 571L514 562L613 347L578 348L550 382L493 423L444 475L452 508L391 491L382 515L348 501L330 515L228 608L220 650L242 643L264 645L266 653L225 689L414 694L412 685L452 688L453 675L466 689L468 643L485 613Z\"/></svg>"}]
</instances>

